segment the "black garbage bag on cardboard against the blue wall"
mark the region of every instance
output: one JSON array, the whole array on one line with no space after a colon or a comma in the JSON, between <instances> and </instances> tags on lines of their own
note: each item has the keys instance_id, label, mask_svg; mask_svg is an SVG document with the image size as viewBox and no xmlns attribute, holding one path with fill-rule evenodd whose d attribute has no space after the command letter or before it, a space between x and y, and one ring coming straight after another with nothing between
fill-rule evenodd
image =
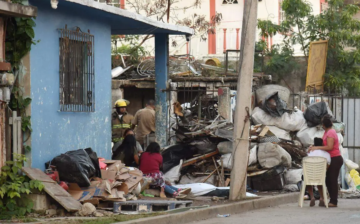
<instances>
[{"instance_id":1,"label":"black garbage bag on cardboard against the blue wall","mask_svg":"<svg viewBox=\"0 0 360 224\"><path fill-rule=\"evenodd\" d=\"M100 177L101 171L96 153L91 149L78 149L61 154L49 163L56 167L61 181L77 183L80 187L90 186L89 178Z\"/></svg>"}]
</instances>

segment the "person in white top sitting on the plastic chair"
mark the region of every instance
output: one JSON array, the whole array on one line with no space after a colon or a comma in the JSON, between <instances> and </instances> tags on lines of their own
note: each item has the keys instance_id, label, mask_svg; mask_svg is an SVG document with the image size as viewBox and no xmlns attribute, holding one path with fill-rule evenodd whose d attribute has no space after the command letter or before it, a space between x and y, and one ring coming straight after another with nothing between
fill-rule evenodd
<instances>
[{"instance_id":1,"label":"person in white top sitting on the plastic chair","mask_svg":"<svg viewBox=\"0 0 360 224\"><path fill-rule=\"evenodd\" d=\"M320 139L318 137L314 138L314 145L313 146L323 146L323 139ZM312 150L309 151L309 153L307 154L308 156L314 156L314 157L323 157L327 160L327 169L329 168L329 165L331 163L331 158L330 158L330 154L327 151L324 150ZM303 176L301 177L302 180ZM319 190L319 194L320 194L320 202L319 202L319 206L324 206L324 195L323 195L323 186L318 185L318 190ZM310 206L315 206L315 197L314 197L314 192L312 191L312 185L306 185L306 190L307 192L309 192L309 196L310 196Z\"/></svg>"}]
</instances>

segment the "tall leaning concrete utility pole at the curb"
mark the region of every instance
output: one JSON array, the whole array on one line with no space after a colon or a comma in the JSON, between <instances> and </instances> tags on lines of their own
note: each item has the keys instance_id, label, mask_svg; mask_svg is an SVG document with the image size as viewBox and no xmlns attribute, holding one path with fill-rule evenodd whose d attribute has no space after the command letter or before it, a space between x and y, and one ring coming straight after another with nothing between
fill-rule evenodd
<instances>
[{"instance_id":1,"label":"tall leaning concrete utility pole at the curb","mask_svg":"<svg viewBox=\"0 0 360 224\"><path fill-rule=\"evenodd\" d=\"M249 118L256 39L257 0L245 0L241 32L239 78L234 116L233 168L230 200L246 198L246 173L249 156ZM247 110L246 110L247 109Z\"/></svg>"}]
</instances>

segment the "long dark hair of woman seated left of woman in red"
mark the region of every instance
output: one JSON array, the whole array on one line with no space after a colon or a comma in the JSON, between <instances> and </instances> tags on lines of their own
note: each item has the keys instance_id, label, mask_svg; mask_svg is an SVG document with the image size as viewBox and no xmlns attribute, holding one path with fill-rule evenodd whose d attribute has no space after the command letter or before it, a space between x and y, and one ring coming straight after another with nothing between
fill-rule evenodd
<instances>
[{"instance_id":1,"label":"long dark hair of woman seated left of woman in red","mask_svg":"<svg viewBox=\"0 0 360 224\"><path fill-rule=\"evenodd\" d=\"M131 130L131 129L130 129ZM125 132L126 133L126 132ZM116 159L120 153L124 153L124 161L126 166L130 166L134 162L134 150L136 150L136 139L134 135L127 135L121 145L114 151L112 159Z\"/></svg>"}]
</instances>

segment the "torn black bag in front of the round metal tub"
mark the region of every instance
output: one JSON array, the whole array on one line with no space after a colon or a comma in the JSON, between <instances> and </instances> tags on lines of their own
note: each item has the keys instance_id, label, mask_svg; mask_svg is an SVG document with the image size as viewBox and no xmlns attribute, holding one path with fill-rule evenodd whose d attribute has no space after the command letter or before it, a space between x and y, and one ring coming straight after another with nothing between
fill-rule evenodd
<instances>
[{"instance_id":1,"label":"torn black bag in front of the round metal tub","mask_svg":"<svg viewBox=\"0 0 360 224\"><path fill-rule=\"evenodd\" d=\"M279 92L268 95L260 106L261 109L270 113L273 117L280 117L287 108L287 103L279 97Z\"/></svg>"}]
</instances>

